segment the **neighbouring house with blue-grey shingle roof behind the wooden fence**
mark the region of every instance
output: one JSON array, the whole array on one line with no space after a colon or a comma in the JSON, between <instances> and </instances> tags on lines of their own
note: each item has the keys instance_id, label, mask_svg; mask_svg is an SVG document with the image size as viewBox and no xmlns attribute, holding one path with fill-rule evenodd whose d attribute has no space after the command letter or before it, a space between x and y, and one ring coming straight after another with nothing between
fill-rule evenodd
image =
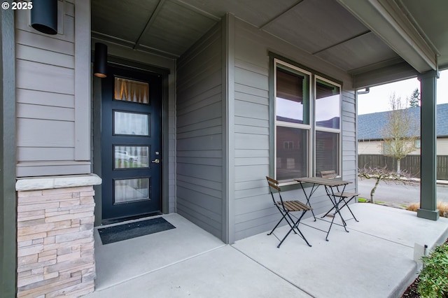
<instances>
[{"instance_id":1,"label":"neighbouring house with blue-grey shingle roof behind the wooden fence","mask_svg":"<svg viewBox=\"0 0 448 298\"><path fill-rule=\"evenodd\" d=\"M420 123L420 108L408 108L416 122ZM381 131L386 125L387 115L392 111L358 115L358 155L382 155L384 142ZM437 104L437 155L448 155L448 104ZM420 155L419 138L412 144L414 150L409 155ZM424 134L424 132L422 132Z\"/></svg>"}]
</instances>

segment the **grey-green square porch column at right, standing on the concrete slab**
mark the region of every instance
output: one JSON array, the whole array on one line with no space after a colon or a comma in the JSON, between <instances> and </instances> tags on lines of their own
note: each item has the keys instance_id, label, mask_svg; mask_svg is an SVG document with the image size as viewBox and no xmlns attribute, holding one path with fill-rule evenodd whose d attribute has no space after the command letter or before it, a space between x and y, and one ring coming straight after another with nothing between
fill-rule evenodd
<instances>
[{"instance_id":1,"label":"grey-green square porch column at right, standing on the concrete slab","mask_svg":"<svg viewBox=\"0 0 448 298\"><path fill-rule=\"evenodd\" d=\"M438 220L437 168L436 168L436 92L438 71L428 71L419 76L421 85L421 183L420 208L417 217Z\"/></svg>"}]
</instances>

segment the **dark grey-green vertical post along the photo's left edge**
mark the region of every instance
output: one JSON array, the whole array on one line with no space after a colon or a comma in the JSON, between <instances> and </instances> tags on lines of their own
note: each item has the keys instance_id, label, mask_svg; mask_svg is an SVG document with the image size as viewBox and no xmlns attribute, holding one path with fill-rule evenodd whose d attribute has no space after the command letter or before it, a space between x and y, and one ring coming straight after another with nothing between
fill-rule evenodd
<instances>
[{"instance_id":1,"label":"dark grey-green vertical post along the photo's left edge","mask_svg":"<svg viewBox=\"0 0 448 298\"><path fill-rule=\"evenodd\" d=\"M16 297L14 10L0 10L0 296Z\"/></svg>"}]
</instances>

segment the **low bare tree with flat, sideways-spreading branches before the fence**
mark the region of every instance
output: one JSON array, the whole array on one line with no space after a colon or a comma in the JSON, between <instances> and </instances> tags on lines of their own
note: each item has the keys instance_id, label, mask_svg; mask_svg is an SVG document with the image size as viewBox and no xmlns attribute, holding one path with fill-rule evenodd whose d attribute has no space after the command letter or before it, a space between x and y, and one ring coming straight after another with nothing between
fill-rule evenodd
<instances>
[{"instance_id":1,"label":"low bare tree with flat, sideways-spreading branches before the fence","mask_svg":"<svg viewBox=\"0 0 448 298\"><path fill-rule=\"evenodd\" d=\"M405 171L402 171L401 173L396 173L393 171L388 171L386 169L387 166L384 166L384 168L366 168L363 167L363 169L358 169L358 177L360 179L374 179L375 185L370 191L370 203L374 204L374 194L375 190L377 190L377 187L379 185L379 182L381 180L384 180L385 183L402 183L404 185L412 184L413 181L410 178L409 174Z\"/></svg>"}]
</instances>

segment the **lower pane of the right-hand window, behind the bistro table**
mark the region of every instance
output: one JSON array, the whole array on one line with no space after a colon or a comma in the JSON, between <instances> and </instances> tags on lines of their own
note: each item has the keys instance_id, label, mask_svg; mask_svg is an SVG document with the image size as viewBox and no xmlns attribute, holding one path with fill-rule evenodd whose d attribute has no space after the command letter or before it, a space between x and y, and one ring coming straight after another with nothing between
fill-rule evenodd
<instances>
[{"instance_id":1,"label":"lower pane of the right-hand window, behind the bistro table","mask_svg":"<svg viewBox=\"0 0 448 298\"><path fill-rule=\"evenodd\" d=\"M316 132L316 176L334 170L339 175L339 134Z\"/></svg>"}]
</instances>

